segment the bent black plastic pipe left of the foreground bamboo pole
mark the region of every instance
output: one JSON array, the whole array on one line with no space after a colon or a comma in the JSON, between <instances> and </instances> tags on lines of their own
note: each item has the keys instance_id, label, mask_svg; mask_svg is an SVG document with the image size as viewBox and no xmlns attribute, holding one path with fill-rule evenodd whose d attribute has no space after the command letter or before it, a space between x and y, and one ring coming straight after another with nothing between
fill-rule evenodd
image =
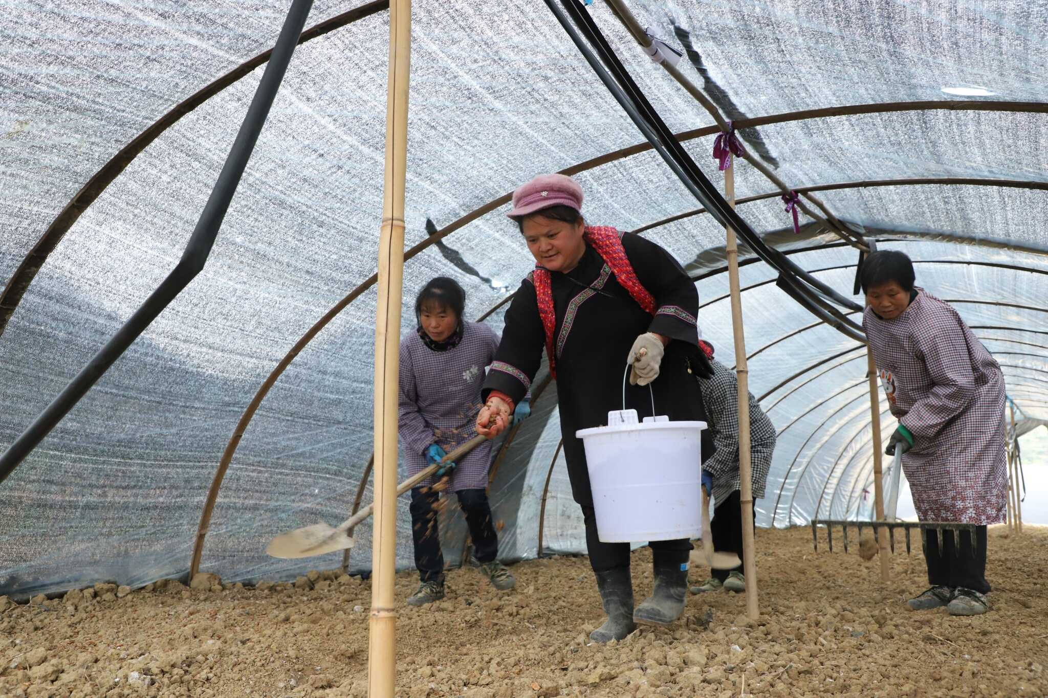
<instances>
[{"instance_id":1,"label":"bent black plastic pipe left of the foreground bamboo pole","mask_svg":"<svg viewBox=\"0 0 1048 698\"><path fill-rule=\"evenodd\" d=\"M280 37L277 39L277 45L274 47L272 55L262 74L262 81L259 83L258 89L255 90L255 97L247 108L244 121L240 125L240 131L237 132L237 138L233 141L230 155L225 158L222 172L218 175L211 197L204 205L203 212L200 213L200 219L197 221L196 228L193 229L193 234L185 245L185 250L182 252L178 265L150 294L146 302L128 318L124 327L116 331L116 334L106 342L106 345L59 393L59 397L15 440L15 443L8 447L3 455L0 455L0 482L5 480L15 468L25 459L25 456L32 452L32 449L50 433L51 429L113 365L113 362L203 269L204 263L211 254L211 248L215 244L218 230L222 226L225 212L230 208L230 202L233 200L233 195L236 193L240 178L247 166L247 160L255 150L255 143L258 141L266 116L269 114L269 108L277 96L277 90L280 89L284 73L287 71L287 65L291 61L291 54L299 42L299 35L302 33L312 4L313 0L293 0L291 2L291 7L284 19L284 26L280 30Z\"/></svg>"}]
</instances>

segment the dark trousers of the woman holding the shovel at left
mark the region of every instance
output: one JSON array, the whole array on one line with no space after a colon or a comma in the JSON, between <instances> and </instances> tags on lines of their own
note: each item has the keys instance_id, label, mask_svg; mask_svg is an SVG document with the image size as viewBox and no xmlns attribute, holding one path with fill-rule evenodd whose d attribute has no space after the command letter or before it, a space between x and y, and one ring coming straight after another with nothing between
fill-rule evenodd
<instances>
[{"instance_id":1,"label":"dark trousers of the woman holding the shovel at left","mask_svg":"<svg viewBox=\"0 0 1048 698\"><path fill-rule=\"evenodd\" d=\"M480 563L492 562L499 553L499 537L492 521L486 490L459 490L459 506L473 539L474 557ZM444 555L440 550L436 503L438 492L429 488L411 491L411 533L415 543L415 566L422 582L444 581Z\"/></svg>"}]
</instances>

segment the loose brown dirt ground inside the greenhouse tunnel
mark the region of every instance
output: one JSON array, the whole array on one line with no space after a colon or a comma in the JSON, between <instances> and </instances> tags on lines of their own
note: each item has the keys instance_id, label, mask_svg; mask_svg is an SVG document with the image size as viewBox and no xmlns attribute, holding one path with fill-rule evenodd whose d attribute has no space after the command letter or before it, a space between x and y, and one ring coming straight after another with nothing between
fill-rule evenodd
<instances>
[{"instance_id":1,"label":"loose brown dirt ground inside the greenhouse tunnel","mask_svg":"<svg viewBox=\"0 0 1048 698\"><path fill-rule=\"evenodd\" d=\"M603 613L585 558L515 565L510 592L453 570L444 601L398 609L397 696L1048 696L1048 528L990 530L994 608L970 618L902 606L925 588L916 540L887 586L857 545L824 542L816 554L810 528L758 532L757 622L741 594L690 595L675 627L608 646L588 644ZM634 553L638 600L650 559ZM0 598L0 696L366 696L370 585L310 577ZM398 599L416 585L398 576Z\"/></svg>"}]
</instances>

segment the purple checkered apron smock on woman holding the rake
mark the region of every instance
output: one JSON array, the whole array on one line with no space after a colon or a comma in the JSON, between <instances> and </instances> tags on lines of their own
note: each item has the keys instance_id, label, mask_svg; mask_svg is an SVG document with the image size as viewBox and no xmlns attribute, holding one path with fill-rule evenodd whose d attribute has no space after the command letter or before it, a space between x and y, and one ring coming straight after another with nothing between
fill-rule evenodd
<instances>
[{"instance_id":1,"label":"purple checkered apron smock on woman holding the rake","mask_svg":"<svg viewBox=\"0 0 1048 698\"><path fill-rule=\"evenodd\" d=\"M867 308L877 373L914 447L902 456L921 521L1004 520L1004 375L953 308L920 293L893 320Z\"/></svg>"}]
</instances>

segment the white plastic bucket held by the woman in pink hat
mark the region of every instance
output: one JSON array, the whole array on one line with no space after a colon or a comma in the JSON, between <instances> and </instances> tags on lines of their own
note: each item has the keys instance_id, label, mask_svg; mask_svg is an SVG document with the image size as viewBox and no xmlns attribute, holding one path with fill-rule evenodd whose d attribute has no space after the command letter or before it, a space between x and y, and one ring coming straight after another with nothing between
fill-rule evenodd
<instances>
[{"instance_id":1,"label":"white plastic bucket held by the woman in pink hat","mask_svg":"<svg viewBox=\"0 0 1048 698\"><path fill-rule=\"evenodd\" d=\"M608 413L607 427L580 429L596 513L597 538L633 543L702 536L705 422Z\"/></svg>"}]
</instances>

